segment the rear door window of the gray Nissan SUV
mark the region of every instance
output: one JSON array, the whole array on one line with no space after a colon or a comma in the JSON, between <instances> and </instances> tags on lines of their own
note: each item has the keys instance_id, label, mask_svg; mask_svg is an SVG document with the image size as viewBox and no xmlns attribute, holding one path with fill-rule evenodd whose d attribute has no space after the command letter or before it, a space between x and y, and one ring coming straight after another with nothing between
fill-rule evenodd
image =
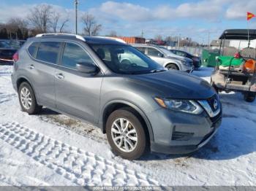
<instances>
[{"instance_id":1,"label":"rear door window of the gray Nissan SUV","mask_svg":"<svg viewBox=\"0 0 256 191\"><path fill-rule=\"evenodd\" d=\"M37 60L57 63L61 42L41 42L37 52Z\"/></svg>"}]
</instances>

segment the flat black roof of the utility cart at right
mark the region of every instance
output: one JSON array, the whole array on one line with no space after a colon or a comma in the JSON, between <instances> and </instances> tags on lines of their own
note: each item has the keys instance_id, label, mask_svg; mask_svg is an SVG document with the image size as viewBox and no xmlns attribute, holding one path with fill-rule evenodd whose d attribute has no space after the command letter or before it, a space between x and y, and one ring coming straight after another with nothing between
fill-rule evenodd
<instances>
[{"instance_id":1,"label":"flat black roof of the utility cart at right","mask_svg":"<svg viewBox=\"0 0 256 191\"><path fill-rule=\"evenodd\" d=\"M248 40L256 39L256 30L255 29L227 29L225 30L219 39L233 39L233 40Z\"/></svg>"}]
</instances>

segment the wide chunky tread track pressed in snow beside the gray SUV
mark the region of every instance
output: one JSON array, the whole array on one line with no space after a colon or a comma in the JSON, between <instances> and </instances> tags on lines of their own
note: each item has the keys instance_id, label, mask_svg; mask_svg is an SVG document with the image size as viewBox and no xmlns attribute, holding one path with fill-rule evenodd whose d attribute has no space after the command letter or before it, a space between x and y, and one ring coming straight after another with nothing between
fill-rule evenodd
<instances>
[{"instance_id":1,"label":"wide chunky tread track pressed in snow beside the gray SUV","mask_svg":"<svg viewBox=\"0 0 256 191\"><path fill-rule=\"evenodd\" d=\"M126 165L50 139L15 122L0 125L0 139L78 185L158 185Z\"/></svg>"}]
</instances>

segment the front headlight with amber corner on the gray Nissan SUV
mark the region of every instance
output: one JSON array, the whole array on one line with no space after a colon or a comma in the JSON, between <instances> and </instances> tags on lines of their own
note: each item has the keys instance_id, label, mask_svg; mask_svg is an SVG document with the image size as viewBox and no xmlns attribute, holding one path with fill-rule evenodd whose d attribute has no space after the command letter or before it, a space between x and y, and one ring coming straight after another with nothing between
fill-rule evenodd
<instances>
[{"instance_id":1,"label":"front headlight with amber corner on the gray Nissan SUV","mask_svg":"<svg viewBox=\"0 0 256 191\"><path fill-rule=\"evenodd\" d=\"M203 108L192 100L170 99L170 98L154 98L159 106L171 109L176 112L185 112L189 114L200 114Z\"/></svg>"}]
</instances>

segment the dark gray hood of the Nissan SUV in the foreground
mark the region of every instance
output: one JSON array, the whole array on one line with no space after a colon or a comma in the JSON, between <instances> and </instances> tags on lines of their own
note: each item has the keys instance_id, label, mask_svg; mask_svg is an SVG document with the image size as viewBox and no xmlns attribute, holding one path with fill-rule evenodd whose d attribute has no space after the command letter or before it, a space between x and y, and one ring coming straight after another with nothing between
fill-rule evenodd
<instances>
[{"instance_id":1,"label":"dark gray hood of the Nissan SUV in the foreground","mask_svg":"<svg viewBox=\"0 0 256 191\"><path fill-rule=\"evenodd\" d=\"M140 83L140 85L151 88L154 96L165 96L165 98L199 100L210 98L216 93L206 80L182 71L131 75L129 78Z\"/></svg>"}]
</instances>

